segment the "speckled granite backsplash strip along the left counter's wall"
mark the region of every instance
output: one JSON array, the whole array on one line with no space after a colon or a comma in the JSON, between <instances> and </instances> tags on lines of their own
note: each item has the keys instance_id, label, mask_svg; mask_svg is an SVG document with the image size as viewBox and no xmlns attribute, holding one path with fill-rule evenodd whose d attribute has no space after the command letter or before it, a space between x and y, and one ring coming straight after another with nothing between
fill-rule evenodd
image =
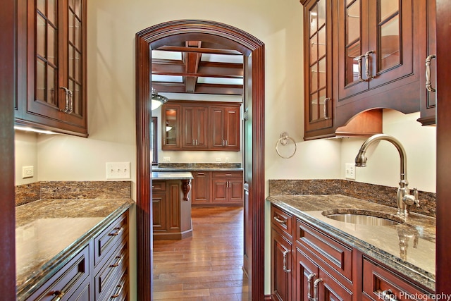
<instances>
[{"instance_id":1,"label":"speckled granite backsplash strip along the left counter's wall","mask_svg":"<svg viewBox=\"0 0 451 301\"><path fill-rule=\"evenodd\" d=\"M42 181L16 186L16 206L38 199L129 199L131 181Z\"/></svg>"}]
</instances>

